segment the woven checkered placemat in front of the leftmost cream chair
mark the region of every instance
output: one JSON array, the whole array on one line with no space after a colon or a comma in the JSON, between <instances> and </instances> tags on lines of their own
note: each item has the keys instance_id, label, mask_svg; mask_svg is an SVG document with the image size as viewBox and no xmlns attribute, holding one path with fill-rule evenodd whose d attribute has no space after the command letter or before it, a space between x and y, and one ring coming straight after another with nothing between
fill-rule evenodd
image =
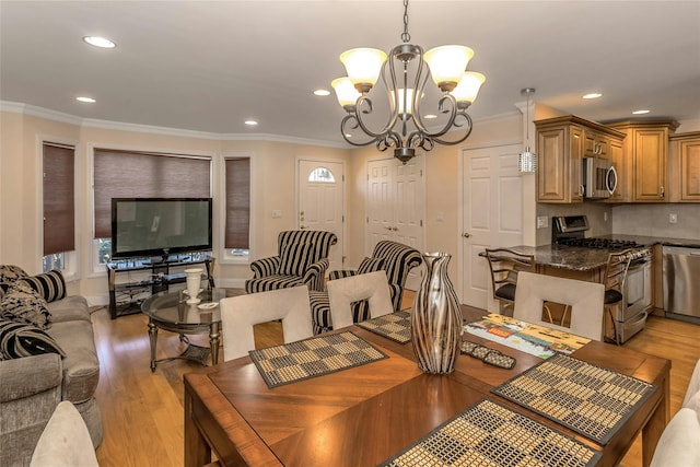
<instances>
[{"instance_id":1,"label":"woven checkered placemat in front of the leftmost cream chair","mask_svg":"<svg viewBox=\"0 0 700 467\"><path fill-rule=\"evenodd\" d=\"M268 387L384 360L387 355L352 332L316 337L248 352Z\"/></svg>"}]
</instances>

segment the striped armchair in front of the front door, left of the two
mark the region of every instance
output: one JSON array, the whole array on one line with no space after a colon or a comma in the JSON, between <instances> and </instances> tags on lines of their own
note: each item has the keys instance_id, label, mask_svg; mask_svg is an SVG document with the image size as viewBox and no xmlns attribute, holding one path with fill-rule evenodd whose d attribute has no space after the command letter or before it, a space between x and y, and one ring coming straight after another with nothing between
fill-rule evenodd
<instances>
[{"instance_id":1,"label":"striped armchair in front of the front door, left of the two","mask_svg":"<svg viewBox=\"0 0 700 467\"><path fill-rule=\"evenodd\" d=\"M277 256L250 264L253 279L245 282L247 293L307 285L324 290L328 253L338 243L332 232L283 231L277 238Z\"/></svg>"}]
</instances>

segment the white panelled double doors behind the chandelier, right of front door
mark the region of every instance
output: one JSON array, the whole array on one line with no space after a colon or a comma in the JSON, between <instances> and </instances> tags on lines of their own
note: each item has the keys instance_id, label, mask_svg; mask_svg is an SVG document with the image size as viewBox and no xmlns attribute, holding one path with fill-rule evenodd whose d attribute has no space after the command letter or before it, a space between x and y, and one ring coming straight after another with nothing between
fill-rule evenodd
<instances>
[{"instance_id":1,"label":"white panelled double doors behind the chandelier, right of front door","mask_svg":"<svg viewBox=\"0 0 700 467\"><path fill-rule=\"evenodd\" d=\"M394 157L368 163L368 255L382 240L423 250L423 164L422 154L405 165ZM417 289L421 270L411 270L407 289Z\"/></svg>"}]
</instances>

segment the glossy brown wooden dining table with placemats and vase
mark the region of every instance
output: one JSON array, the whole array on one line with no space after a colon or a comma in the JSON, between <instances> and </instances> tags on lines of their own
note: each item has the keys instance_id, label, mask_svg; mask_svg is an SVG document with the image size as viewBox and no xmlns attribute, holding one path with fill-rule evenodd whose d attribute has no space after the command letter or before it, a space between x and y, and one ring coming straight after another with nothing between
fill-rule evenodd
<instances>
[{"instance_id":1,"label":"glossy brown wooden dining table with placemats and vase","mask_svg":"<svg viewBox=\"0 0 700 467\"><path fill-rule=\"evenodd\" d=\"M474 317L472 318L478 318ZM670 416L666 359L591 341L571 357L657 385L605 444L491 394L541 362L538 357L465 335L516 359L511 370L458 357L450 374L428 374L410 342L359 326L350 330L388 358L268 388L249 357L185 375L185 466L376 466L485 397L602 453L596 465L618 465L642 433L643 464Z\"/></svg>"}]
</instances>

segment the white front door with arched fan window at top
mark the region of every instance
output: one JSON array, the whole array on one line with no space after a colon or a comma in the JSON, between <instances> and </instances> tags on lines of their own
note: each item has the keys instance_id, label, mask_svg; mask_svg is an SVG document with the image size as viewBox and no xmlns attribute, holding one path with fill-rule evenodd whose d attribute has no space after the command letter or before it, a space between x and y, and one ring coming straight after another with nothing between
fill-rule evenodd
<instances>
[{"instance_id":1,"label":"white front door with arched fan window at top","mask_svg":"<svg viewBox=\"0 0 700 467\"><path fill-rule=\"evenodd\" d=\"M345 261L345 166L340 162L299 160L299 229L328 231L338 236L330 248L328 270L342 269Z\"/></svg>"}]
</instances>

